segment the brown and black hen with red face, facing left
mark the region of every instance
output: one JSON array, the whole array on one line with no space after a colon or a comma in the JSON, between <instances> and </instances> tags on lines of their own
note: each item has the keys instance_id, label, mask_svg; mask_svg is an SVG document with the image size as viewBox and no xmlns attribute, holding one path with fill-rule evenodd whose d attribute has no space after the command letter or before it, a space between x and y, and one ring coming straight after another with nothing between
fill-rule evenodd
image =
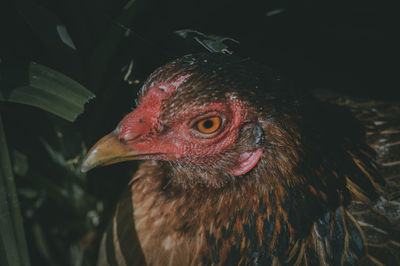
<instances>
[{"instance_id":1,"label":"brown and black hen with red face, facing left","mask_svg":"<svg viewBox=\"0 0 400 266\"><path fill-rule=\"evenodd\" d=\"M231 55L157 69L82 164L145 160L98 265L400 265L398 190L339 105Z\"/></svg>"}]
</instances>

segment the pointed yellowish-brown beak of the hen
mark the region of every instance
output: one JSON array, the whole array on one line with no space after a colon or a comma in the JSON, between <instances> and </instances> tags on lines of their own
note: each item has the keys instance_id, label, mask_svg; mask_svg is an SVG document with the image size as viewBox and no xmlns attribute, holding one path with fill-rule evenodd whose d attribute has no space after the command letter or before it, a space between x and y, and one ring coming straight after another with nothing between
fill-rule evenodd
<instances>
[{"instance_id":1,"label":"pointed yellowish-brown beak of the hen","mask_svg":"<svg viewBox=\"0 0 400 266\"><path fill-rule=\"evenodd\" d=\"M143 153L133 150L122 143L117 133L111 132L100 139L86 154L81 171L87 172L98 166L137 159Z\"/></svg>"}]
</instances>

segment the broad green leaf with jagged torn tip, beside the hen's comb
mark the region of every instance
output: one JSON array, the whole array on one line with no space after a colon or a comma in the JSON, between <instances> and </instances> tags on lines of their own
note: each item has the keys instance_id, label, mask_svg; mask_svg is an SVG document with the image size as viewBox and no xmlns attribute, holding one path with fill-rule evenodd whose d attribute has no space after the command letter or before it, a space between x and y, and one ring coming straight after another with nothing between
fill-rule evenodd
<instances>
[{"instance_id":1,"label":"broad green leaf with jagged torn tip, beside the hen's comb","mask_svg":"<svg viewBox=\"0 0 400 266\"><path fill-rule=\"evenodd\" d=\"M0 101L39 107L72 122L94 97L66 75L34 62L0 68Z\"/></svg>"}]
</instances>

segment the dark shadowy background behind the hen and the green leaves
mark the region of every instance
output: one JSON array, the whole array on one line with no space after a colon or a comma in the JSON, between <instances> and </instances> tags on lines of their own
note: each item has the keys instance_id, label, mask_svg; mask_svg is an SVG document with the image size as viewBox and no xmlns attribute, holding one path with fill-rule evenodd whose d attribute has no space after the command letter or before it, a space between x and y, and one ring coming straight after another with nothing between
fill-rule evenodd
<instances>
[{"instance_id":1,"label":"dark shadowy background behind the hen and the green leaves","mask_svg":"<svg viewBox=\"0 0 400 266\"><path fill-rule=\"evenodd\" d=\"M281 71L298 87L400 99L398 14L385 2L3 0L0 15L0 64L35 61L97 96L74 123L0 105L14 168L27 168L15 174L33 265L94 264L99 235L135 164L84 175L82 153L134 107L156 67L206 51L177 30L233 38L239 43L224 42L230 51ZM132 84L124 81L131 60Z\"/></svg>"}]
</instances>

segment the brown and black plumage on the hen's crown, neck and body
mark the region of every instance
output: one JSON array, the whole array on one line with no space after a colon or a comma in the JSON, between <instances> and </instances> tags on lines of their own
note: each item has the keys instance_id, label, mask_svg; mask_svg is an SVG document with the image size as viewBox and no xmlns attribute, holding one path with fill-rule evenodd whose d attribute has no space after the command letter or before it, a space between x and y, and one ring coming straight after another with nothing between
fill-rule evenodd
<instances>
[{"instance_id":1,"label":"brown and black plumage on the hen's crown, neck and body","mask_svg":"<svg viewBox=\"0 0 400 266\"><path fill-rule=\"evenodd\" d=\"M207 169L143 162L99 265L400 265L400 105L316 100L250 60L205 54L156 70L141 95L188 73L163 125L179 108L239 97L253 117L224 156L264 154L240 177L224 158Z\"/></svg>"}]
</instances>

